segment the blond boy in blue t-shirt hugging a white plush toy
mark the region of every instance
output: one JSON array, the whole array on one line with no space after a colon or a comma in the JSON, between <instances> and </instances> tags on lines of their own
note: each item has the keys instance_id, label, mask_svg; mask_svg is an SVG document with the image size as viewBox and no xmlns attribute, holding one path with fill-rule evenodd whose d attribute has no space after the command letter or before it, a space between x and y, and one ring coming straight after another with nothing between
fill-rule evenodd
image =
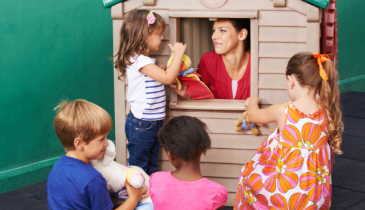
<instances>
[{"instance_id":1,"label":"blond boy in blue t-shirt hugging a white plush toy","mask_svg":"<svg viewBox=\"0 0 365 210\"><path fill-rule=\"evenodd\" d=\"M112 118L85 100L63 101L55 110L54 130L65 151L53 166L47 182L50 209L112 209L107 182L90 159L103 156ZM127 185L129 198L118 209L134 209L143 191Z\"/></svg>"}]
</instances>

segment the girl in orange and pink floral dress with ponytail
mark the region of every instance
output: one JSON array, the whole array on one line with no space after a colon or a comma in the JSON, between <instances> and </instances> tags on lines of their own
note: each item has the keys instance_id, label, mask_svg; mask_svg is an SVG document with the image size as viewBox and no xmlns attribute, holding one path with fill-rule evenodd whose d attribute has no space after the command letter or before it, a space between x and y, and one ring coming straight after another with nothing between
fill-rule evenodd
<instances>
[{"instance_id":1,"label":"girl in orange and pink floral dress with ponytail","mask_svg":"<svg viewBox=\"0 0 365 210\"><path fill-rule=\"evenodd\" d=\"M342 154L343 123L337 71L327 58L301 52L289 60L286 87L293 102L259 109L259 98L247 98L252 122L278 128L242 168L234 209L329 209L331 153Z\"/></svg>"}]
</instances>

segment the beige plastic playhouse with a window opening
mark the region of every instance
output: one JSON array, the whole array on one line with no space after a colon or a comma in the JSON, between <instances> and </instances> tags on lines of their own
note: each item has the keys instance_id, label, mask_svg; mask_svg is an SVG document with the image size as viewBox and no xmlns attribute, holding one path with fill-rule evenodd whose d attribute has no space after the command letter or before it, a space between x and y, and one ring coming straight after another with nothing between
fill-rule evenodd
<instances>
[{"instance_id":1,"label":"beige plastic playhouse with a window opening","mask_svg":"<svg viewBox=\"0 0 365 210\"><path fill-rule=\"evenodd\" d=\"M326 10L302 0L127 0L112 6L114 54L120 43L119 32L125 14L135 9L152 10L167 24L160 50L153 52L156 63L169 59L168 43L187 43L185 54L196 70L202 54L214 50L211 28L217 18L246 18L251 21L251 96L261 98L261 107L286 103L286 63L298 52L329 54L336 63L337 24L335 1ZM116 160L127 164L127 138L124 125L128 81L118 80L114 70ZM260 134L235 131L235 122L244 112L244 101L182 99L169 85L166 118L187 115L200 118L209 127L212 148L202 156L202 175L224 185L229 191L227 206L233 206L238 176L266 136L275 129L271 123L259 127ZM174 170L160 149L160 170Z\"/></svg>"}]
</instances>

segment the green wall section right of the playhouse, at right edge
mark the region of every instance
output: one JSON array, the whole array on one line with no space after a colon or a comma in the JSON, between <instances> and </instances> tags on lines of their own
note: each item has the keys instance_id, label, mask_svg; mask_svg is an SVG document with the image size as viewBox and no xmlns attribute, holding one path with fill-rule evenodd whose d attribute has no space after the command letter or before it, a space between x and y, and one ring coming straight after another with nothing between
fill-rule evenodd
<instances>
[{"instance_id":1,"label":"green wall section right of the playhouse, at right edge","mask_svg":"<svg viewBox=\"0 0 365 210\"><path fill-rule=\"evenodd\" d=\"M364 0L337 0L337 68L342 92L365 92L364 11Z\"/></svg>"}]
</instances>

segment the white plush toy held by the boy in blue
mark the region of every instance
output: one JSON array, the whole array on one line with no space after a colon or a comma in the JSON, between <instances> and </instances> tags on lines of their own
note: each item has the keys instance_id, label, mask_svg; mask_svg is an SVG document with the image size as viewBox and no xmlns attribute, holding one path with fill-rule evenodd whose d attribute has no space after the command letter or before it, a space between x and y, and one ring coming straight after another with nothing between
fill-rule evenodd
<instances>
[{"instance_id":1,"label":"white plush toy held by the boy in blue","mask_svg":"<svg viewBox=\"0 0 365 210\"><path fill-rule=\"evenodd\" d=\"M107 188L112 195L117 198L127 199L125 182L135 188L149 187L149 176L136 166L125 166L114 161L116 151L111 140L107 140L109 145L105 148L105 153L98 160L89 160L89 164L99 171L107 181ZM141 199L138 203L152 202L150 197Z\"/></svg>"}]
</instances>

